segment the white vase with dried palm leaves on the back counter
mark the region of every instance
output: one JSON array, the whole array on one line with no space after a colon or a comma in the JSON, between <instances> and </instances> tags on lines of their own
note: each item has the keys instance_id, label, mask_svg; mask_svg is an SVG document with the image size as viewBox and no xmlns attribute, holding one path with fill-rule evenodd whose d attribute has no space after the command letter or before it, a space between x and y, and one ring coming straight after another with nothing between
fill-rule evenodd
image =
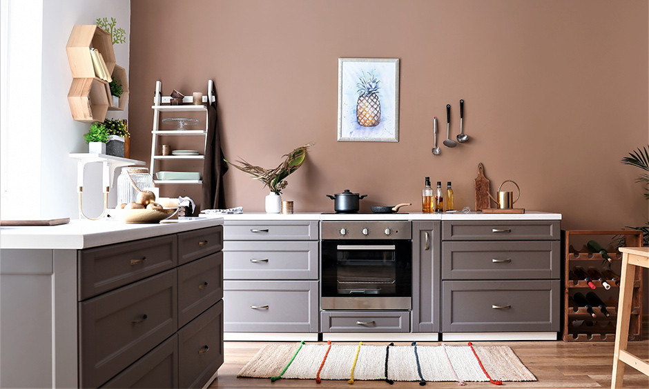
<instances>
[{"instance_id":1,"label":"white vase with dried palm leaves on the back counter","mask_svg":"<svg viewBox=\"0 0 649 389\"><path fill-rule=\"evenodd\" d=\"M304 159L307 157L307 150L311 146L313 146L313 144L309 143L296 148L289 154L284 154L283 157L286 157L284 162L280 163L280 166L272 170L253 166L244 160L237 161L240 165L235 165L226 159L224 159L224 161L235 168L238 168L242 172L251 174L253 179L262 181L264 186L267 186L271 190L271 193L266 197L266 212L280 213L282 210L282 197L280 195L282 194L282 190L288 185L286 178L289 177L289 174L295 172L300 168L300 166L302 166Z\"/></svg>"}]
</instances>

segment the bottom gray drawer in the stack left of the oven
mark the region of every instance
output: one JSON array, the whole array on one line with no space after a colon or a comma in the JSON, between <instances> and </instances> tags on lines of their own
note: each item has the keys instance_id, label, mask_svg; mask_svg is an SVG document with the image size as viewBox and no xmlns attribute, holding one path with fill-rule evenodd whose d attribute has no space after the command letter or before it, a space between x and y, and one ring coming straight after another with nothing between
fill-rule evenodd
<instances>
[{"instance_id":1,"label":"bottom gray drawer in the stack left of the oven","mask_svg":"<svg viewBox=\"0 0 649 389\"><path fill-rule=\"evenodd\" d=\"M318 281L226 280L224 289L226 332L318 332Z\"/></svg>"}]
</instances>

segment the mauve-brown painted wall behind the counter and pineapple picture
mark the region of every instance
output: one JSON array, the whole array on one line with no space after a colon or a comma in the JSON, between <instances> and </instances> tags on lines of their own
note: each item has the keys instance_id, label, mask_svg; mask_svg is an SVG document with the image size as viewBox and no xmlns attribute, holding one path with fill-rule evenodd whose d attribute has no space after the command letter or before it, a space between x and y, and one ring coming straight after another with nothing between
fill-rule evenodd
<instances>
[{"instance_id":1,"label":"mauve-brown painted wall behind the counter and pineapple picture","mask_svg":"<svg viewBox=\"0 0 649 389\"><path fill-rule=\"evenodd\" d=\"M619 161L649 143L648 21L646 1L133 1L132 157L149 159L156 80L191 94L213 79L227 158L270 168L316 143L282 196L296 212L332 212L324 194L346 188L369 194L361 210L418 212L425 176L473 208L482 162L492 192L516 181L516 207L563 228L641 225L641 171ZM336 141L339 57L400 59L398 143ZM445 137L450 103L454 137L460 99L471 141L436 157L432 118ZM225 183L227 206L264 210L261 183Z\"/></svg>"}]
</instances>

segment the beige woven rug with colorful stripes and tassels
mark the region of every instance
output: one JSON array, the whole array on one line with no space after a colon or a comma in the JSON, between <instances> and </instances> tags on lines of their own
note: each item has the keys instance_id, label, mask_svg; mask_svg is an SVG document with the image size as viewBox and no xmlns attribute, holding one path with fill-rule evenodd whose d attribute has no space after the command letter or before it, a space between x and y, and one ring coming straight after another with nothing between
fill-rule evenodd
<instances>
[{"instance_id":1,"label":"beige woven rug with colorful stripes and tassels","mask_svg":"<svg viewBox=\"0 0 649 389\"><path fill-rule=\"evenodd\" d=\"M269 344L237 377L419 381L536 381L508 346L367 346L358 344Z\"/></svg>"}]
</instances>

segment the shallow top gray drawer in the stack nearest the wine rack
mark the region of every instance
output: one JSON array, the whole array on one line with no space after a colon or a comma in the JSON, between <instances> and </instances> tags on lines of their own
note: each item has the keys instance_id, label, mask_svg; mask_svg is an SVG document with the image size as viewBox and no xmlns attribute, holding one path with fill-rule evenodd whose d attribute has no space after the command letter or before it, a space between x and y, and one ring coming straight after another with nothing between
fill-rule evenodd
<instances>
[{"instance_id":1,"label":"shallow top gray drawer in the stack nearest the wine rack","mask_svg":"<svg viewBox=\"0 0 649 389\"><path fill-rule=\"evenodd\" d=\"M443 221L444 241L538 241L561 239L558 220Z\"/></svg>"}]
</instances>

